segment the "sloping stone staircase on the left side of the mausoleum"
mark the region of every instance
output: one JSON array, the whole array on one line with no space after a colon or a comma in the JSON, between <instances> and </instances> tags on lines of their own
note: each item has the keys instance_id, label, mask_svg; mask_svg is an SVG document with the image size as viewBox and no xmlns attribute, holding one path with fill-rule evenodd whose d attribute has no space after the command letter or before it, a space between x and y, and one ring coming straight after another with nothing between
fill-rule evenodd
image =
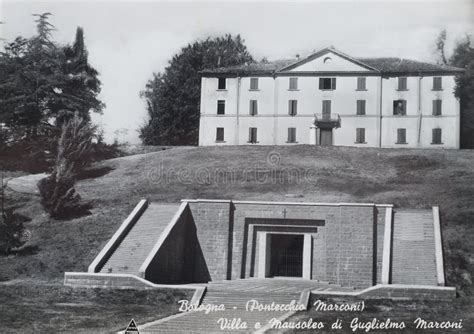
<instances>
[{"instance_id":1,"label":"sloping stone staircase on the left side of the mausoleum","mask_svg":"<svg viewBox=\"0 0 474 334\"><path fill-rule=\"evenodd\" d=\"M153 204L143 212L132 229L115 249L100 272L137 275L140 266L170 223L179 204Z\"/></svg>"}]
</instances>

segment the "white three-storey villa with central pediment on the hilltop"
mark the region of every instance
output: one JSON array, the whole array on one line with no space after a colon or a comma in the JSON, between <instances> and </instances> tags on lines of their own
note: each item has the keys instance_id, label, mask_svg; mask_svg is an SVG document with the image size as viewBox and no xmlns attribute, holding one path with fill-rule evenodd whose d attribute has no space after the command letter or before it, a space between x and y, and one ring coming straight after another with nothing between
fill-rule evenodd
<instances>
[{"instance_id":1,"label":"white three-storey villa with central pediment on the hilltop","mask_svg":"<svg viewBox=\"0 0 474 334\"><path fill-rule=\"evenodd\" d=\"M199 145L459 148L462 71L333 48L204 70Z\"/></svg>"}]
</instances>

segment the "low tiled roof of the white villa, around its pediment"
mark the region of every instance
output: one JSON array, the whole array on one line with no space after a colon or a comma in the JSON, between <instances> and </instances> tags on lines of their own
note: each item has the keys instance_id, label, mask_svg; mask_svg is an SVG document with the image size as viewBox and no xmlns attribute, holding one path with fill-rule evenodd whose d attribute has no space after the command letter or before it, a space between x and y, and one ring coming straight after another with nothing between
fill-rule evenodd
<instances>
[{"instance_id":1,"label":"low tiled roof of the white villa, around its pediment","mask_svg":"<svg viewBox=\"0 0 474 334\"><path fill-rule=\"evenodd\" d=\"M215 69L205 69L201 71L204 76L209 75L274 75L278 73L287 72L300 64L304 64L312 59L315 59L326 53L336 53L339 56L365 67L371 72L380 74L409 74L409 73L446 73L454 74L463 72L464 69L447 66L431 64L411 59L396 58L396 57L382 57L382 58L353 58L344 53L337 51L334 48L325 48L318 52L310 54L303 59L282 59L272 62L248 63L244 65L219 67Z\"/></svg>"}]
</instances>

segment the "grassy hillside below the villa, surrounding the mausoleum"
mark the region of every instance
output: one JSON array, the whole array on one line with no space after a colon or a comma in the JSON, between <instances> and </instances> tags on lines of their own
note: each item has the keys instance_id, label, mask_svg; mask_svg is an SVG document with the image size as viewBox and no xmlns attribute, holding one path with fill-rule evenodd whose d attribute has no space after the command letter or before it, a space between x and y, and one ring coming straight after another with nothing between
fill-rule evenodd
<instances>
[{"instance_id":1,"label":"grassy hillside below the villa, surrounding the mausoleum","mask_svg":"<svg viewBox=\"0 0 474 334\"><path fill-rule=\"evenodd\" d=\"M465 305L460 309L472 305L474 151L177 147L98 163L79 181L77 190L85 200L94 201L94 209L89 216L69 221L50 221L36 196L8 192L9 201L32 218L27 223L32 238L24 250L0 257L1 281L60 284L64 271L87 270L141 198L439 205L447 282L459 289L457 303ZM11 303L23 298L13 296ZM0 321L6 320L0 315Z\"/></svg>"}]
</instances>

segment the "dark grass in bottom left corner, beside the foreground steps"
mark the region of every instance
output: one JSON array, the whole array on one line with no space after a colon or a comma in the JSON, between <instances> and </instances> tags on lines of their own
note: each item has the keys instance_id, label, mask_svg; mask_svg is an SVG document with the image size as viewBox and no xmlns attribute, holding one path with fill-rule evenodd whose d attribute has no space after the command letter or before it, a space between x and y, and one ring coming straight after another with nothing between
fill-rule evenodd
<instances>
[{"instance_id":1,"label":"dark grass in bottom left corner, beside the foreground steps","mask_svg":"<svg viewBox=\"0 0 474 334\"><path fill-rule=\"evenodd\" d=\"M73 289L37 280L0 285L4 333L117 332L177 312L190 290Z\"/></svg>"}]
</instances>

